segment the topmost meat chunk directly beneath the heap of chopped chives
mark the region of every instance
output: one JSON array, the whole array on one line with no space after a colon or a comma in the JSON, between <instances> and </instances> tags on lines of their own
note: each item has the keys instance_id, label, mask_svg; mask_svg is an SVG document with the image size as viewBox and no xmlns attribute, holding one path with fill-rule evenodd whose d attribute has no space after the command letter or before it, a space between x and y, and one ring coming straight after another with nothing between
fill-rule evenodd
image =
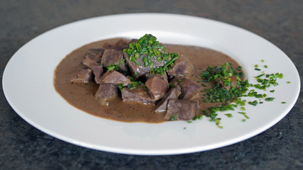
<instances>
[{"instance_id":1,"label":"topmost meat chunk directly beneath the heap of chopped chives","mask_svg":"<svg viewBox=\"0 0 303 170\"><path fill-rule=\"evenodd\" d=\"M138 62L138 64L135 64L135 62L131 61L130 57L128 56L128 54L126 54L126 52L123 52L123 56L126 59L126 64L128 64L128 67L129 67L129 69L131 69L132 74L135 74L136 76L140 77L140 76L143 76L150 72L150 67L145 67L144 61L143 61L143 58L146 57L147 55L144 55L143 57L138 57L138 60L136 60L136 62ZM155 67L164 66L163 61L158 62L153 57L151 57L150 60L152 62L154 62L154 65L153 65L154 69L155 69Z\"/></svg>"}]
</instances>

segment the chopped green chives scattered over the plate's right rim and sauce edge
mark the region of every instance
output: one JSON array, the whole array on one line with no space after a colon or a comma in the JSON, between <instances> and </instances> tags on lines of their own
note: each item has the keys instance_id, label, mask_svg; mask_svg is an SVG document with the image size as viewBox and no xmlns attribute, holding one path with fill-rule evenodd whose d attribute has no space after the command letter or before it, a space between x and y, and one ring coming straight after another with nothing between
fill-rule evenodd
<instances>
[{"instance_id":1,"label":"chopped green chives scattered over the plate's right rim and sauce edge","mask_svg":"<svg viewBox=\"0 0 303 170\"><path fill-rule=\"evenodd\" d=\"M264 62L264 60L262 60L262 62ZM265 65L264 68L266 69L268 68L268 66ZM258 69L258 64L255 64L255 70L261 71L261 69ZM236 87L231 86L231 77L236 77ZM207 111L201 112L203 115L210 118L210 121L216 123L219 128L223 127L220 125L221 118L217 118L218 112L234 111L234 108L241 106L241 112L238 113L242 114L244 118L249 119L248 115L246 115L245 112L242 112L246 110L243 107L246 106L246 103L252 106L257 106L258 103L263 103L263 101L260 101L260 98L264 98L264 101L273 101L275 98L266 98L267 94L258 94L255 89L266 91L266 89L272 86L277 86L277 79L282 79L283 74L265 74L264 72L262 72L262 74L255 77L258 82L257 84L250 84L248 83L248 80L243 80L243 77L244 74L242 72L242 68L237 67L236 69L233 69L232 65L229 63L214 67L209 66L202 74L200 74L200 78L202 79L202 81L198 82L212 84L211 88L206 88L201 91L202 93L204 93L202 97L203 101L205 103L222 103L219 106L209 107ZM205 84L201 85L205 86ZM230 86L230 88L224 88L224 86ZM248 88L250 88L250 91L248 91ZM270 93L274 92L275 90L270 90ZM258 98L259 102L257 100L246 101L246 99L241 99L239 97L254 97ZM233 117L231 113L226 113L224 115L226 115L228 118ZM245 122L246 119L243 119L242 121ZM197 117L194 117L192 120L197 120ZM189 123L191 122L192 121L189 121Z\"/></svg>"}]
</instances>

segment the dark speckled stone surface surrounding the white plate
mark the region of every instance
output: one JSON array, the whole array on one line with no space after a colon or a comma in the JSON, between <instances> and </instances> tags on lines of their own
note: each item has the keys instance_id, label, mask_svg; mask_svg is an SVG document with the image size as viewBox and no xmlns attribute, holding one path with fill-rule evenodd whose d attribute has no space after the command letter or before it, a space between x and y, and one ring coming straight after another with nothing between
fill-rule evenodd
<instances>
[{"instance_id":1,"label":"dark speckled stone surface surrounding the white plate","mask_svg":"<svg viewBox=\"0 0 303 170\"><path fill-rule=\"evenodd\" d=\"M250 30L280 47L303 74L303 1L0 1L0 78L18 48L47 30L115 13L179 13ZM301 79L302 83L302 79ZM302 94L302 89L301 89ZM40 132L0 91L0 169L303 169L303 98L269 130L235 145L194 154L100 152Z\"/></svg>"}]
</instances>

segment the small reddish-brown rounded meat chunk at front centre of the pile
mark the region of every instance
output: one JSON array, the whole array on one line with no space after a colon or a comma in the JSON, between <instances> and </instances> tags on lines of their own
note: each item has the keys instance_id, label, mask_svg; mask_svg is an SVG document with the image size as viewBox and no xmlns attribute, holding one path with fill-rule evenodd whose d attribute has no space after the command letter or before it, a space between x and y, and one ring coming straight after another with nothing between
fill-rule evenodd
<instances>
[{"instance_id":1,"label":"small reddish-brown rounded meat chunk at front centre of the pile","mask_svg":"<svg viewBox=\"0 0 303 170\"><path fill-rule=\"evenodd\" d=\"M155 101L163 98L165 92L168 90L167 80L161 79L160 77L152 77L145 82L145 86L148 87L148 91L153 96Z\"/></svg>"}]
</instances>

